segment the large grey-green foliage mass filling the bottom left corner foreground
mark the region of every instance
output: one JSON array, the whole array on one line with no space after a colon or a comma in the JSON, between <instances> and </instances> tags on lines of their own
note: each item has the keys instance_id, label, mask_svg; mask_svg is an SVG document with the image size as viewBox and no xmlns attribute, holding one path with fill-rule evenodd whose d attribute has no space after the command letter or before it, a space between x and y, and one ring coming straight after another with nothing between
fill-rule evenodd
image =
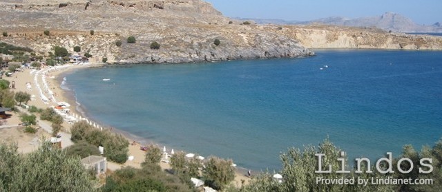
<instances>
[{"instance_id":1,"label":"large grey-green foliage mass filling the bottom left corner foreground","mask_svg":"<svg viewBox=\"0 0 442 192\"><path fill-rule=\"evenodd\" d=\"M97 191L79 158L44 142L37 151L18 153L0 144L0 191Z\"/></svg>"}]
</instances>

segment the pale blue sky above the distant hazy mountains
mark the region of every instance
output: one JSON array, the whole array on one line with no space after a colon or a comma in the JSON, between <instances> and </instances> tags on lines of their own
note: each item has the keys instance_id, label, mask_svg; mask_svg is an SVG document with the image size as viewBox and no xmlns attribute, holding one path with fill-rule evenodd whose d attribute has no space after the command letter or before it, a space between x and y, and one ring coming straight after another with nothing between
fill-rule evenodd
<instances>
[{"instance_id":1,"label":"pale blue sky above the distant hazy mountains","mask_svg":"<svg viewBox=\"0 0 442 192\"><path fill-rule=\"evenodd\" d=\"M441 0L205 0L227 17L308 21L396 12L419 24L442 22Z\"/></svg>"}]
</instances>

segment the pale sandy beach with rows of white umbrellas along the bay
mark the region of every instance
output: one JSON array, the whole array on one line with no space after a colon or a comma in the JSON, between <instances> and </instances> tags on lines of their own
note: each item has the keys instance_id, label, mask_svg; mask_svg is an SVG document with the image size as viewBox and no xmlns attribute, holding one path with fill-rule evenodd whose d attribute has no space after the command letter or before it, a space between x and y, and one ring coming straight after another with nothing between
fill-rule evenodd
<instances>
[{"instance_id":1,"label":"pale sandy beach with rows of white umbrellas along the bay","mask_svg":"<svg viewBox=\"0 0 442 192\"><path fill-rule=\"evenodd\" d=\"M12 76L6 77L6 79L15 83L15 89L12 89L14 92L27 92L32 96L32 99L28 102L28 106L35 106L41 109L46 109L47 107L57 106L59 102L66 102L70 106L64 109L69 109L68 114L63 114L65 121L63 123L63 129L61 131L61 147L66 148L70 145L73 145L73 142L70 141L70 126L75 120L84 119L82 114L80 114L75 107L75 98L70 96L70 93L61 89L61 82L57 81L58 78L61 78L61 74L64 72L68 72L68 70L75 70L84 67L99 67L100 65L63 65L62 67L46 67L41 70L32 70L25 69L22 72L15 72ZM21 108L21 107L19 107ZM26 109L27 110L27 109ZM21 109L21 111L26 111L25 109ZM38 140L45 137L49 138L50 133L52 132L52 128L50 127L50 122L46 120L38 120L38 125L41 127L37 134L26 134L23 133L23 127L18 126L21 122L19 120L19 114L9 112L12 114L11 118L8 118L3 125L0 126L0 140L3 142L17 142L19 147L19 152L28 153L38 148ZM87 119L87 118L86 118ZM88 120L90 121L90 120ZM98 125L96 122L91 122L93 125L97 126L97 129L106 129L106 127L102 127L102 125ZM117 131L117 130L115 130ZM129 142L133 142L134 138L130 138L126 136ZM133 156L133 160L128 160L124 164L117 164L114 162L108 162L108 169L115 171L121 167L131 166L135 168L141 167L141 163L144 161L144 151L140 150L141 145L137 142L135 145L129 145L129 154L128 156ZM162 146L158 146L161 149ZM166 149L166 151L170 154L172 149ZM169 163L161 162L160 166L162 169L170 169ZM248 182L250 178L248 178L245 174L247 170L237 169L236 179L233 184L236 186L240 186L242 180Z\"/></svg>"}]
</instances>

